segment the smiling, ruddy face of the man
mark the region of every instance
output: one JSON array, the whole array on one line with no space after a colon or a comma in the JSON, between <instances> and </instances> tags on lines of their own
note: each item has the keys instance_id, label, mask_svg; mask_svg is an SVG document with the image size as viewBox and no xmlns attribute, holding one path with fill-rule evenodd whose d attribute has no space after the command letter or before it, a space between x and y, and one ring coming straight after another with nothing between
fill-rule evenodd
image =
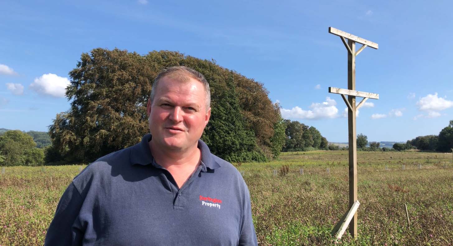
<instances>
[{"instance_id":1,"label":"smiling, ruddy face of the man","mask_svg":"<svg viewBox=\"0 0 453 246\"><path fill-rule=\"evenodd\" d=\"M175 150L196 148L211 116L203 84L192 78L188 82L162 78L147 112L154 146Z\"/></svg>"}]
</instances>

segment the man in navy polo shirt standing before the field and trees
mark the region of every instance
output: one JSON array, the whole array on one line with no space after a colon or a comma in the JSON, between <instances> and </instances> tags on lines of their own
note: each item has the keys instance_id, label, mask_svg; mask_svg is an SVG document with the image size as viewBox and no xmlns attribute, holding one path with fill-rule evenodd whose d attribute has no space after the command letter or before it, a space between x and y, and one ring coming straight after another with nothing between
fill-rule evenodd
<instances>
[{"instance_id":1,"label":"man in navy polo shirt standing before the field and trees","mask_svg":"<svg viewBox=\"0 0 453 246\"><path fill-rule=\"evenodd\" d=\"M257 245L242 176L200 140L211 116L203 75L161 72L147 113L141 143L74 178L45 245Z\"/></svg>"}]
</instances>

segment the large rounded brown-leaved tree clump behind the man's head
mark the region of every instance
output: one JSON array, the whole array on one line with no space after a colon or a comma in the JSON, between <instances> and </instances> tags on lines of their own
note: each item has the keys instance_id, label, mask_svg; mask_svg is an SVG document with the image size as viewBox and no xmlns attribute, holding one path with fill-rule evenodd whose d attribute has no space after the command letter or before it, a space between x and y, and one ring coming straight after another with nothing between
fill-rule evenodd
<instances>
[{"instance_id":1,"label":"large rounded brown-leaved tree clump behind the man's head","mask_svg":"<svg viewBox=\"0 0 453 246\"><path fill-rule=\"evenodd\" d=\"M229 107L224 103L232 98L227 98L228 88L234 88L238 106L233 111L238 111L242 117L224 117L225 124L241 122L247 136L255 138L255 153L267 158L275 156L278 141L272 139L279 134L274 128L280 121L280 109L274 107L262 84L224 69L214 60L197 59L173 51L140 55L127 50L100 48L93 49L90 54L83 53L77 67L69 73L71 84L66 96L71 100L71 108L57 114L49 127L53 147L48 153L53 157L61 155L67 162L90 162L138 143L148 133L146 102L154 78L161 69L174 65L190 67L206 77L211 88L211 118L214 121L223 117L222 113ZM234 86L227 85L231 74L234 74L234 81L228 83ZM209 136L208 129L203 138ZM217 149L218 146L209 147ZM235 157L234 160L239 159Z\"/></svg>"}]
</instances>

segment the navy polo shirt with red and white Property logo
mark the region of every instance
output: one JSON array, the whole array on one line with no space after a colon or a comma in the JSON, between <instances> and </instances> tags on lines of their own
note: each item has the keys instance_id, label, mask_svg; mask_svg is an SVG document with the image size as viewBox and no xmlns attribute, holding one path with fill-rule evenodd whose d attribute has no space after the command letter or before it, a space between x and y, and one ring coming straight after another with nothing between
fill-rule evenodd
<instances>
[{"instance_id":1,"label":"navy polo shirt with red and white Property logo","mask_svg":"<svg viewBox=\"0 0 453 246\"><path fill-rule=\"evenodd\" d=\"M88 165L61 197L45 245L257 245L250 195L199 140L201 165L178 189L151 135Z\"/></svg>"}]
</instances>

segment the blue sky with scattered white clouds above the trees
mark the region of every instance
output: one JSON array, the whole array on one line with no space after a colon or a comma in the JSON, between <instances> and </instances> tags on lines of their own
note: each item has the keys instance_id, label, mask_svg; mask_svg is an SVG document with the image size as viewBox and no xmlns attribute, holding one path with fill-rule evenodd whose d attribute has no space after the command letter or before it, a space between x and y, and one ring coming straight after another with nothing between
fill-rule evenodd
<instances>
[{"instance_id":1,"label":"blue sky with scattered white clouds above the trees","mask_svg":"<svg viewBox=\"0 0 453 246\"><path fill-rule=\"evenodd\" d=\"M369 141L438 134L453 119L451 1L0 2L0 128L47 131L69 108L64 87L82 52L178 50L265 85L284 118L347 142L338 94L347 51L328 27L379 44L357 56ZM359 46L360 47L360 46ZM358 47L357 47L358 49ZM371 104L372 103L372 104Z\"/></svg>"}]
</instances>

